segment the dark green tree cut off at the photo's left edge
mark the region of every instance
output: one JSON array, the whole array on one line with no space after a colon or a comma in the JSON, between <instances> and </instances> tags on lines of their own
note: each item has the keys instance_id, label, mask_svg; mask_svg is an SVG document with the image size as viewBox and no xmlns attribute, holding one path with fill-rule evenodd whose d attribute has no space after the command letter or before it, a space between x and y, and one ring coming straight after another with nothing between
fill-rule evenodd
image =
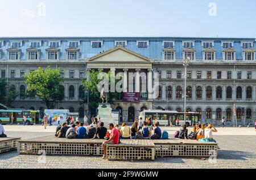
<instances>
[{"instance_id":1,"label":"dark green tree cut off at the photo's left edge","mask_svg":"<svg viewBox=\"0 0 256 180\"><path fill-rule=\"evenodd\" d=\"M7 83L5 78L0 79L0 103L10 107L16 97L19 96L19 91L15 87Z\"/></svg>"}]
</instances>

